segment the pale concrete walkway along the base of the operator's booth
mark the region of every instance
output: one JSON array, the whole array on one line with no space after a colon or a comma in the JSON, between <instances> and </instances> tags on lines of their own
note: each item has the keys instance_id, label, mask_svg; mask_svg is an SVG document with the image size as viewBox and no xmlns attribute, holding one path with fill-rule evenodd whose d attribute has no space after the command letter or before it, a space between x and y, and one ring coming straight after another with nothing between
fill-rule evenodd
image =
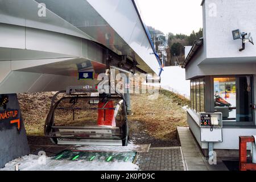
<instances>
[{"instance_id":1,"label":"pale concrete walkway along the base of the operator's booth","mask_svg":"<svg viewBox=\"0 0 256 182\"><path fill-rule=\"evenodd\" d=\"M177 127L181 149L188 171L227 171L221 159L217 160L217 165L210 165L208 160L201 153L189 127Z\"/></svg>"}]
</instances>

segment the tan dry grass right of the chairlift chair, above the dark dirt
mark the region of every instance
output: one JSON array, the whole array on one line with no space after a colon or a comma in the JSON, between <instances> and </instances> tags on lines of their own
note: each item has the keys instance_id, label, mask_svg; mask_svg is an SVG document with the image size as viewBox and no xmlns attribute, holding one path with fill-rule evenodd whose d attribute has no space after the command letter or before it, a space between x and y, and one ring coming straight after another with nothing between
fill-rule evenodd
<instances>
[{"instance_id":1,"label":"tan dry grass right of the chairlift chair, above the dark dirt","mask_svg":"<svg viewBox=\"0 0 256 182\"><path fill-rule=\"evenodd\" d=\"M189 101L174 93L160 89L157 100L148 100L148 94L131 96L133 115L131 121L143 122L152 137L168 140L175 138L177 126L187 126L186 111L182 106Z\"/></svg>"}]
</instances>

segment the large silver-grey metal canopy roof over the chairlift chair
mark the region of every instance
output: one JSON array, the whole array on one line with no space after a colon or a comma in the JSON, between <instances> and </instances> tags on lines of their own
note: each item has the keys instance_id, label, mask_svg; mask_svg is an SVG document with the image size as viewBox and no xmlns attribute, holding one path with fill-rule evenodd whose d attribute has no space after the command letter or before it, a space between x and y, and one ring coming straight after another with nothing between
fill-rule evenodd
<instances>
[{"instance_id":1,"label":"large silver-grey metal canopy roof over the chairlift chair","mask_svg":"<svg viewBox=\"0 0 256 182\"><path fill-rule=\"evenodd\" d=\"M46 5L45 17L38 15L39 2ZM159 73L138 12L133 0L0 1L0 94L89 84L77 81L77 71L102 72L105 47Z\"/></svg>"}]
</instances>

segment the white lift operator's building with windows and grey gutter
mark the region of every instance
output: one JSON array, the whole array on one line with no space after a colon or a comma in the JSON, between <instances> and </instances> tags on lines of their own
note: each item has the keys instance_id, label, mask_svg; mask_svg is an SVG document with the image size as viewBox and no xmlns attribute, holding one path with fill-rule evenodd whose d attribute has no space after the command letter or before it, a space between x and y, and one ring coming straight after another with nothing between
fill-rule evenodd
<instances>
[{"instance_id":1,"label":"white lift operator's building with windows and grey gutter","mask_svg":"<svg viewBox=\"0 0 256 182\"><path fill-rule=\"evenodd\" d=\"M203 38L183 63L191 80L188 125L205 156L208 148L238 156L240 137L256 134L256 2L205 0L201 6Z\"/></svg>"}]
</instances>

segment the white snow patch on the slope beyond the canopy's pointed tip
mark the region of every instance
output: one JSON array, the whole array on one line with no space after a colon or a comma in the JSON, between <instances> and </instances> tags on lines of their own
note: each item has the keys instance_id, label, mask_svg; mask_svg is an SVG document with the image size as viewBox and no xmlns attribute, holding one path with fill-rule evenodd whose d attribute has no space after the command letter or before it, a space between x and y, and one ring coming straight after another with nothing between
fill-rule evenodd
<instances>
[{"instance_id":1,"label":"white snow patch on the slope beyond the canopy's pointed tip","mask_svg":"<svg viewBox=\"0 0 256 182\"><path fill-rule=\"evenodd\" d=\"M165 89L174 89L174 92L189 98L190 81L185 80L185 69L180 67L164 67L161 75L161 86Z\"/></svg>"}]
</instances>

